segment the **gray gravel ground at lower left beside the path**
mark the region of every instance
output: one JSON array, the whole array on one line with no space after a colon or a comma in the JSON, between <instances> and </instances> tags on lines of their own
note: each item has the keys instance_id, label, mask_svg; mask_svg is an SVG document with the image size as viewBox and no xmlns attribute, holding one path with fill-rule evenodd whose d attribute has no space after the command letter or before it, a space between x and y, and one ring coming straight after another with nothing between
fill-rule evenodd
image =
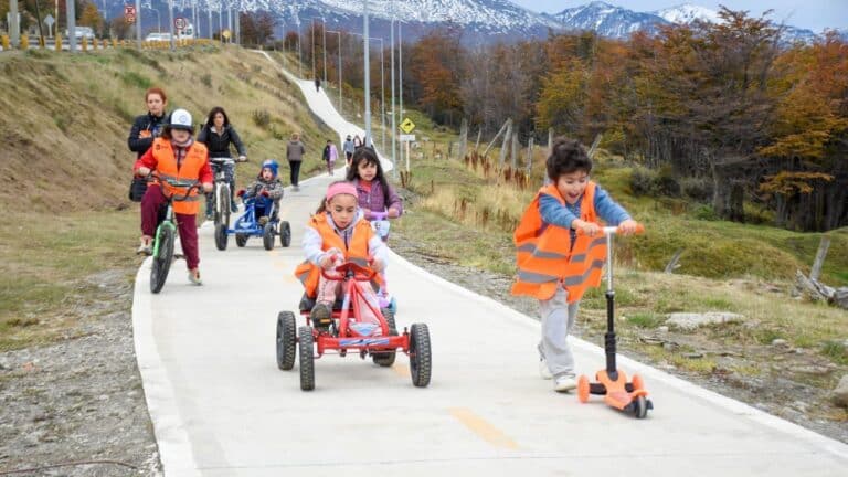
<instances>
[{"instance_id":1,"label":"gray gravel ground at lower left beside the path","mask_svg":"<svg viewBox=\"0 0 848 477\"><path fill-rule=\"evenodd\" d=\"M0 473L161 474L132 342L132 272L87 277L96 305L61 341L0 353ZM44 468L68 463L89 464Z\"/></svg>"}]
</instances>

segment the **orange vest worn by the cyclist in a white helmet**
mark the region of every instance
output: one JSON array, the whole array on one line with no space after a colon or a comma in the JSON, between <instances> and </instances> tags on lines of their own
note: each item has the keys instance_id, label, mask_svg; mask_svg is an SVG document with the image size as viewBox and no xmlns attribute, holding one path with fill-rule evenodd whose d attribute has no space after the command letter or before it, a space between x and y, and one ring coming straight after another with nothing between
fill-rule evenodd
<instances>
[{"instance_id":1,"label":"orange vest worn by the cyclist in a white helmet","mask_svg":"<svg viewBox=\"0 0 848 477\"><path fill-rule=\"evenodd\" d=\"M156 170L159 172L159 177L162 179L171 180L199 180L200 171L203 169L203 165L209 161L209 152L206 147L200 142L194 141L189 148L189 152L182 160L180 168L177 168L177 157L173 153L171 141L163 138L153 139L153 158L157 161ZM162 188L162 192L166 195L176 194L182 197L189 188L172 187L166 181L159 181ZM200 197L198 195L198 189L192 189L191 193L184 201L173 201L173 212L186 215L197 215L200 211Z\"/></svg>"}]
</instances>

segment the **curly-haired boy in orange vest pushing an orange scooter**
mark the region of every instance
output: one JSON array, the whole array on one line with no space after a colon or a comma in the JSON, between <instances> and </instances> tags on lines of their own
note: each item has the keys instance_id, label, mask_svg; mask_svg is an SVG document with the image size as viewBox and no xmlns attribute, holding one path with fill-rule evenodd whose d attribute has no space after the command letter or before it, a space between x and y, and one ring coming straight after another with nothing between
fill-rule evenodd
<instances>
[{"instance_id":1,"label":"curly-haired boy in orange vest pushing an orange scooter","mask_svg":"<svg viewBox=\"0 0 848 477\"><path fill-rule=\"evenodd\" d=\"M592 160L579 141L558 138L547 169L551 183L539 190L516 229L518 279L511 293L539 299L539 372L565 392L577 385L568 336L583 293L601 283L606 257L600 219L625 234L637 223L589 180Z\"/></svg>"}]
</instances>

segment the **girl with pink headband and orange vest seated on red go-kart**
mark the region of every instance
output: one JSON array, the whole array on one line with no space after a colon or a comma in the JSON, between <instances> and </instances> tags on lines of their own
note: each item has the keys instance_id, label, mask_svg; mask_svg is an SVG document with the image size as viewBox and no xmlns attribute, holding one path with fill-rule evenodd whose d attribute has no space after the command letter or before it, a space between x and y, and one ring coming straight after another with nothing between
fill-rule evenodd
<instances>
[{"instance_id":1,"label":"girl with pink headband and orange vest seated on red go-kart","mask_svg":"<svg viewBox=\"0 0 848 477\"><path fill-rule=\"evenodd\" d=\"M320 273L332 269L340 262L350 261L369 266L377 272L385 268L386 247L371 229L358 205L357 188L350 182L333 182L315 215L309 219L304 233L303 246L306 261L295 271L306 288L306 295L316 298L311 311L315 326L328 326L332 305L342 293L344 278L327 279ZM365 298L374 306L377 296L371 284L362 284ZM375 321L368 306L360 308L365 321Z\"/></svg>"}]
</instances>

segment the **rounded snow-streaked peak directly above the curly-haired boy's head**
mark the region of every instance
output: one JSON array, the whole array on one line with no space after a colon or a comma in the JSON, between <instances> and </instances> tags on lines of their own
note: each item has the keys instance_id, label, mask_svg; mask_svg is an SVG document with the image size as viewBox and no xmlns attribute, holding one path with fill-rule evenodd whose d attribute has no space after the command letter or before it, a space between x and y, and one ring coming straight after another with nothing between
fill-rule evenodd
<instances>
[{"instance_id":1,"label":"rounded snow-streaked peak directly above the curly-haired boy's head","mask_svg":"<svg viewBox=\"0 0 848 477\"><path fill-rule=\"evenodd\" d=\"M602 36L627 38L633 32L656 31L656 25L668 23L653 13L639 13L602 1L565 9L551 18L566 30L593 30Z\"/></svg>"}]
</instances>

